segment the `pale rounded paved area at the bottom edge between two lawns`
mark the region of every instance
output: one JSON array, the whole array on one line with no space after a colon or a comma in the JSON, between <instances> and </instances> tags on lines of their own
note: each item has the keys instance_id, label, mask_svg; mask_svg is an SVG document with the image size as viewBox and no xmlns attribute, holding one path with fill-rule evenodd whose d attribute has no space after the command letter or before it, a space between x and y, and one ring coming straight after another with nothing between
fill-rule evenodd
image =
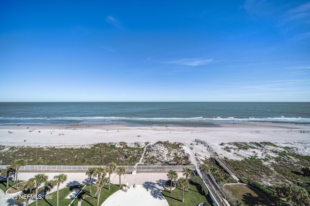
<instances>
[{"instance_id":1,"label":"pale rounded paved area at the bottom edge between two lawns","mask_svg":"<svg viewBox=\"0 0 310 206\"><path fill-rule=\"evenodd\" d=\"M143 184L133 186L125 191L117 191L101 206L169 206L166 198L153 185Z\"/></svg>"}]
</instances>

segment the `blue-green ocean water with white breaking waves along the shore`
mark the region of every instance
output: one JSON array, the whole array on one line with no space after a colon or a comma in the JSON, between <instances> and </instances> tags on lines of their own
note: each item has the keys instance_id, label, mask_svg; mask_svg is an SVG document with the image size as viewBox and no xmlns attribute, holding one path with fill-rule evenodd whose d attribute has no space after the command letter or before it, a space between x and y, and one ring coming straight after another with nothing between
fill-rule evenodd
<instances>
[{"instance_id":1,"label":"blue-green ocean water with white breaking waves along the shore","mask_svg":"<svg viewBox=\"0 0 310 206\"><path fill-rule=\"evenodd\" d=\"M123 123L211 126L248 122L310 124L310 103L0 103L2 125Z\"/></svg>"}]
</instances>

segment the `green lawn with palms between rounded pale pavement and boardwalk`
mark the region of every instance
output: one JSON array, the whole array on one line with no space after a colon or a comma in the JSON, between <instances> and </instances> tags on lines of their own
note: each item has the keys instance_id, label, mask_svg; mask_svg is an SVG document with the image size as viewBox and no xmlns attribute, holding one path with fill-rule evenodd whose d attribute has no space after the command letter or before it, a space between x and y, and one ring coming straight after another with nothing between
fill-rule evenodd
<instances>
[{"instance_id":1,"label":"green lawn with palms between rounded pale pavement and boardwalk","mask_svg":"<svg viewBox=\"0 0 310 206\"><path fill-rule=\"evenodd\" d=\"M164 190L161 193L167 199L169 206L197 206L199 203L207 202L198 185L190 184L188 192L184 191L184 203L182 202L182 188L178 186L178 183L171 193L170 190Z\"/></svg>"}]
</instances>

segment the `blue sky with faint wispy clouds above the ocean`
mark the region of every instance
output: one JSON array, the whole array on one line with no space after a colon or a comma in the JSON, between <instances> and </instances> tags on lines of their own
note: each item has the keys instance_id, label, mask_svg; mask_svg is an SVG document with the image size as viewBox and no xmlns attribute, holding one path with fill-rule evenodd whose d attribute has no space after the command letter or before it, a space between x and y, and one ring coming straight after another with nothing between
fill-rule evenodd
<instances>
[{"instance_id":1,"label":"blue sky with faint wispy clouds above the ocean","mask_svg":"<svg viewBox=\"0 0 310 206\"><path fill-rule=\"evenodd\" d=\"M0 102L310 101L310 1L0 1Z\"/></svg>"}]
</instances>

